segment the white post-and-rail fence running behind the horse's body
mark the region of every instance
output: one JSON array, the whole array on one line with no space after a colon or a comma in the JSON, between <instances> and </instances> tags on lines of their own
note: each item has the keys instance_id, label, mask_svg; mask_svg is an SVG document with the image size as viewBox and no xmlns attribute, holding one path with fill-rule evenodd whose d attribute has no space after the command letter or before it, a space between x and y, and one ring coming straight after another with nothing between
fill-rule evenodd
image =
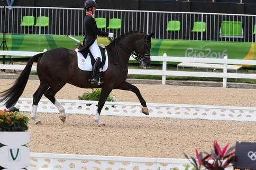
<instances>
[{"instance_id":1,"label":"white post-and-rail fence running behind the horse's body","mask_svg":"<svg viewBox=\"0 0 256 170\"><path fill-rule=\"evenodd\" d=\"M45 51L46 49L44 49ZM21 51L0 51L0 55L5 56L33 56L41 52L21 52ZM130 57L130 60L134 58ZM162 76L162 84L166 84L166 76L185 76L185 77L218 77L223 78L223 87L227 86L227 78L247 78L256 79L256 74L244 73L228 73L227 64L237 65L256 65L255 60L246 59L227 59L224 58L194 58L194 57L171 57L166 53L163 56L151 56L151 61L162 62L162 70L156 69L128 69L128 74L138 75L160 75ZM191 62L191 63L215 63L223 64L223 73L215 72L186 72L186 71L168 71L167 62ZM25 65L5 65L0 64L0 69L24 69ZM32 66L32 71L36 71L36 66Z\"/></svg>"}]
</instances>

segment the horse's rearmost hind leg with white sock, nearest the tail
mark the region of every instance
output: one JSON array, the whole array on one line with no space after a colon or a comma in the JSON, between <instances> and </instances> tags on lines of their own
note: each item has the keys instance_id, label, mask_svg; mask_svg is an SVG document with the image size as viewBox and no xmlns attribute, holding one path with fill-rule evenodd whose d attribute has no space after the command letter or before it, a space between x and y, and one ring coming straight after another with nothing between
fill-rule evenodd
<instances>
[{"instance_id":1,"label":"horse's rearmost hind leg with white sock, nearest the tail","mask_svg":"<svg viewBox=\"0 0 256 170\"><path fill-rule=\"evenodd\" d=\"M33 106L32 106L32 111L30 114L31 119L35 121L35 124L41 124L41 121L39 118L36 118L36 109L38 108L38 103L44 94L45 91L50 87L48 82L41 81L38 89L33 95Z\"/></svg>"}]
</instances>

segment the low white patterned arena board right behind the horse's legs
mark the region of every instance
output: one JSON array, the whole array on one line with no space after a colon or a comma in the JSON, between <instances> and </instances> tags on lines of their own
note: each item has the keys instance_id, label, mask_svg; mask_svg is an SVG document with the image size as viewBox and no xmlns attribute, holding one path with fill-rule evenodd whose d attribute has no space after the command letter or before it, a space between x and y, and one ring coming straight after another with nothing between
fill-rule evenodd
<instances>
[{"instance_id":1,"label":"low white patterned arena board right behind the horse's legs","mask_svg":"<svg viewBox=\"0 0 256 170\"><path fill-rule=\"evenodd\" d=\"M32 101L32 98L20 98L15 106L20 108L20 111L31 112ZM67 99L58 99L58 101L69 114L93 115L98 104L97 101ZM2 103L0 109L4 108ZM100 115L256 121L256 107L148 103L148 116L141 112L141 108L140 103L106 102ZM38 104L38 112L59 113L57 107L48 99L41 99Z\"/></svg>"}]
</instances>

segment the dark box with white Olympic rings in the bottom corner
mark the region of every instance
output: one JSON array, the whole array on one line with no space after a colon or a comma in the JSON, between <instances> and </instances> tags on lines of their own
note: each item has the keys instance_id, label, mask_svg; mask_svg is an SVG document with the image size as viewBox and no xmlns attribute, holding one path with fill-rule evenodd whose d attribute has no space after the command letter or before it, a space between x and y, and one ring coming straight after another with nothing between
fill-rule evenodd
<instances>
[{"instance_id":1,"label":"dark box with white Olympic rings in the bottom corner","mask_svg":"<svg viewBox=\"0 0 256 170\"><path fill-rule=\"evenodd\" d=\"M256 143L236 142L234 169L256 168Z\"/></svg>"}]
</instances>

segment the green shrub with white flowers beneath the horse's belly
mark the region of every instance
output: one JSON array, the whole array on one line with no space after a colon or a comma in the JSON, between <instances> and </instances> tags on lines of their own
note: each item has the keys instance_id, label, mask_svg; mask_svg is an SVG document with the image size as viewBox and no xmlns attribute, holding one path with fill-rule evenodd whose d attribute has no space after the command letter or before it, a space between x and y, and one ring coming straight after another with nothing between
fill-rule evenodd
<instances>
[{"instance_id":1,"label":"green shrub with white flowers beneath the horse's belly","mask_svg":"<svg viewBox=\"0 0 256 170\"><path fill-rule=\"evenodd\" d=\"M85 100L85 101L99 101L99 96L101 92L102 92L101 88L95 88L93 89L92 93L86 92L82 96L78 96L78 99ZM115 102L116 98L113 94L109 94L106 101Z\"/></svg>"}]
</instances>

